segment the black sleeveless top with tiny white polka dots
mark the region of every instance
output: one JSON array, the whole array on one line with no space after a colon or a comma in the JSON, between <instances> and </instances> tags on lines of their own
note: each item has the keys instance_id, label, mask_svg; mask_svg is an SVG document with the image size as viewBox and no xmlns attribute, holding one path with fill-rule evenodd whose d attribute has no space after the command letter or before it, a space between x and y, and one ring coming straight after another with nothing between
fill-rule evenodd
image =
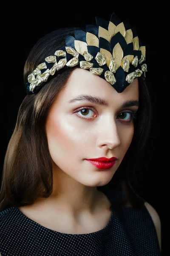
<instances>
[{"instance_id":1,"label":"black sleeveless top with tiny white polka dots","mask_svg":"<svg viewBox=\"0 0 170 256\"><path fill-rule=\"evenodd\" d=\"M112 192L112 201L120 192ZM156 228L144 206L115 207L94 233L65 234L41 226L17 207L0 212L1 256L161 256Z\"/></svg>"}]
</instances>

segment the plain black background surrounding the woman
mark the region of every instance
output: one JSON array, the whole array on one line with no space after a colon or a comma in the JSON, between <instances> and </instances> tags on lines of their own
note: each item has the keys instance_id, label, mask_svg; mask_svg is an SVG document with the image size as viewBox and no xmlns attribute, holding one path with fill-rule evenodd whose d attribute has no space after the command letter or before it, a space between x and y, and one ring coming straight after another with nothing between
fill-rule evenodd
<instances>
[{"instance_id":1,"label":"plain black background surrounding the woman","mask_svg":"<svg viewBox=\"0 0 170 256\"><path fill-rule=\"evenodd\" d=\"M169 13L161 3L107 1L6 4L1 8L1 175L8 141L26 90L23 67L36 41L57 28L96 24L95 16L109 20L112 12L136 26L146 46L147 84L152 100L153 119L150 138L140 163L138 192L158 212L161 219L162 255L169 242ZM150 5L149 5L150 4ZM168 240L167 240L168 239ZM165 254L167 255L167 254Z\"/></svg>"}]
</instances>

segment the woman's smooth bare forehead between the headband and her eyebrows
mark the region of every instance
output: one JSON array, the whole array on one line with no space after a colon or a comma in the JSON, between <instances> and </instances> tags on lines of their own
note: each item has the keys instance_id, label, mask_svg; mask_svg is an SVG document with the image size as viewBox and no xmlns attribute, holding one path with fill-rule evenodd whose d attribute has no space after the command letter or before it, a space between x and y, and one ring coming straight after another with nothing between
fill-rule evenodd
<instances>
[{"instance_id":1,"label":"woman's smooth bare forehead between the headband and her eyebrows","mask_svg":"<svg viewBox=\"0 0 170 256\"><path fill-rule=\"evenodd\" d=\"M69 101L78 95L91 95L107 99L108 102L123 102L129 99L139 99L139 84L138 79L135 79L122 93L118 93L110 83L101 77L92 74L88 70L81 68L75 69L64 90L59 93L58 101Z\"/></svg>"}]
</instances>

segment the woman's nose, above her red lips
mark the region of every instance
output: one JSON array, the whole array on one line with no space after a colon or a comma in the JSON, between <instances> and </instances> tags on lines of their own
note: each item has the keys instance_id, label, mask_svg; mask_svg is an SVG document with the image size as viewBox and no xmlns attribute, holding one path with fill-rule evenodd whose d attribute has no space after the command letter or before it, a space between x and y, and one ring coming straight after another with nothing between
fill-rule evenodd
<instances>
[{"instance_id":1,"label":"woman's nose, above her red lips","mask_svg":"<svg viewBox=\"0 0 170 256\"><path fill-rule=\"evenodd\" d=\"M102 124L99 125L99 134L97 144L99 147L109 146L110 149L116 148L120 145L119 130L116 125L116 120L108 118Z\"/></svg>"}]
</instances>

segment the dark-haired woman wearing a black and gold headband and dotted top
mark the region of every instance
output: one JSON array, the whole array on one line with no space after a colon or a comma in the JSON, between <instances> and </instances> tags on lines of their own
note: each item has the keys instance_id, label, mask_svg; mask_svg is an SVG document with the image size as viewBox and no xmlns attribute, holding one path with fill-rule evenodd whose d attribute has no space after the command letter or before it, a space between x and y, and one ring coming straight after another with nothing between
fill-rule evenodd
<instances>
[{"instance_id":1,"label":"dark-haired woman wearing a black and gold headband and dotted top","mask_svg":"<svg viewBox=\"0 0 170 256\"><path fill-rule=\"evenodd\" d=\"M145 47L114 13L96 22L51 32L28 56L2 255L161 255L159 215L132 185L151 119Z\"/></svg>"}]
</instances>

